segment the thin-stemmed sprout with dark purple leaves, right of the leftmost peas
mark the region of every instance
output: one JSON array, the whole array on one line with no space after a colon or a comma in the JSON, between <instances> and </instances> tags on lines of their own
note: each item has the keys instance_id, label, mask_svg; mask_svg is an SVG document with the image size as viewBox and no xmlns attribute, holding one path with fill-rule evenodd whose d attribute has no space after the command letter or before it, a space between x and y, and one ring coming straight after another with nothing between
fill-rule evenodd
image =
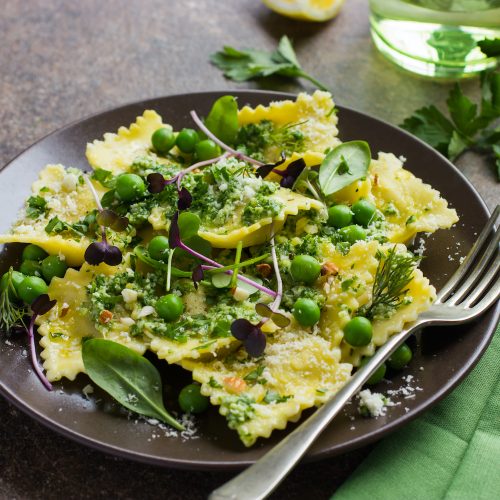
<instances>
[{"instance_id":1,"label":"thin-stemmed sprout with dark purple leaves, right of the leftmost peas","mask_svg":"<svg viewBox=\"0 0 500 500\"><path fill-rule=\"evenodd\" d=\"M99 211L96 219L97 223L101 227L102 234L102 241L94 241L85 250L85 261L92 266L97 266L102 262L108 264L109 266L117 266L122 262L122 253L118 247L108 243L106 238L106 227L109 227L114 231L123 231L127 228L129 221L127 217L121 217L113 212L113 210L104 209L92 182L87 175L84 174L83 177L96 202L97 209Z\"/></svg>"}]
</instances>

